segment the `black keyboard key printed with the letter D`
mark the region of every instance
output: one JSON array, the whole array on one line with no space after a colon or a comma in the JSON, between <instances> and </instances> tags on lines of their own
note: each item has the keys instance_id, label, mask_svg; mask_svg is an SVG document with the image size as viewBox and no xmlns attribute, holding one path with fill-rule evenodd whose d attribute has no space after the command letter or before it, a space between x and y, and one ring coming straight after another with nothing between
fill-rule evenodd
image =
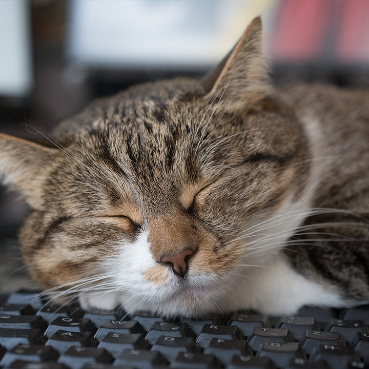
<instances>
[{"instance_id":1,"label":"black keyboard key printed with the letter D","mask_svg":"<svg viewBox=\"0 0 369 369\"><path fill-rule=\"evenodd\" d=\"M192 338L160 336L151 348L173 361L180 352L201 353L200 346Z\"/></svg>"}]
</instances>

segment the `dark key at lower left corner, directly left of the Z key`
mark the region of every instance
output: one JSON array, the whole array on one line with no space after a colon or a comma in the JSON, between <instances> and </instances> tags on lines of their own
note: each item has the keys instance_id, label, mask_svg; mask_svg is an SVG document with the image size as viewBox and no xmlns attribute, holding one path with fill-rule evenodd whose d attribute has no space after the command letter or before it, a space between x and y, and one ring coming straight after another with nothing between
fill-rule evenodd
<instances>
[{"instance_id":1,"label":"dark key at lower left corner, directly left of the Z key","mask_svg":"<svg viewBox=\"0 0 369 369\"><path fill-rule=\"evenodd\" d=\"M4 355L0 366L8 366L15 360L34 362L56 361L58 356L58 352L53 347L19 343Z\"/></svg>"}]
</instances>

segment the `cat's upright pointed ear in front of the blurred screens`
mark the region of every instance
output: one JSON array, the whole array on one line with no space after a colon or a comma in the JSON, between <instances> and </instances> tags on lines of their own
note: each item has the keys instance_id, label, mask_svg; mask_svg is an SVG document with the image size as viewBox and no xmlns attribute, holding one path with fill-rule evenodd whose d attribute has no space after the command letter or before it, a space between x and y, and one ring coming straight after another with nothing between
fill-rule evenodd
<instances>
[{"instance_id":1,"label":"cat's upright pointed ear in front of the blurred screens","mask_svg":"<svg viewBox=\"0 0 369 369\"><path fill-rule=\"evenodd\" d=\"M262 26L255 18L235 47L202 80L206 97L221 96L232 110L245 109L263 98L268 90L268 64L262 52Z\"/></svg>"}]
</instances>

